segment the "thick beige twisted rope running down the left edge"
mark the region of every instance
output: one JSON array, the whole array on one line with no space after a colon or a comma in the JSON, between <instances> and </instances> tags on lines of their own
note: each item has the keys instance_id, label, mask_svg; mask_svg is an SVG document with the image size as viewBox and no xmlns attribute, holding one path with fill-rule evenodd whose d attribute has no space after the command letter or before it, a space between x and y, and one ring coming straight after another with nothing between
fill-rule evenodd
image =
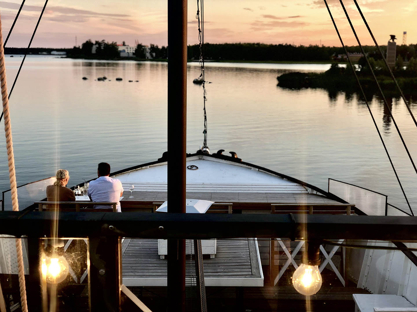
<instances>
[{"instance_id":1,"label":"thick beige twisted rope running down the left edge","mask_svg":"<svg viewBox=\"0 0 417 312\"><path fill-rule=\"evenodd\" d=\"M2 36L2 31L1 31L1 19L0 19L0 86L1 86L1 96L2 96L2 101L3 101L4 130L6 134L6 147L7 147L7 157L8 157L8 165L9 165L10 190L12 193L12 206L13 206L13 211L19 211L18 188L16 186L16 174L15 174L15 158L13 155L12 129L10 125L10 115L9 115L9 99L7 96L6 66L5 66L5 59L4 59L3 36ZM20 240L20 238L16 238L16 254L18 258L17 260L18 260L18 271L19 271L20 302L22 303L22 311L28 312L28 302L26 301L25 272L24 272L24 266L23 266L22 240Z\"/></svg>"}]
</instances>

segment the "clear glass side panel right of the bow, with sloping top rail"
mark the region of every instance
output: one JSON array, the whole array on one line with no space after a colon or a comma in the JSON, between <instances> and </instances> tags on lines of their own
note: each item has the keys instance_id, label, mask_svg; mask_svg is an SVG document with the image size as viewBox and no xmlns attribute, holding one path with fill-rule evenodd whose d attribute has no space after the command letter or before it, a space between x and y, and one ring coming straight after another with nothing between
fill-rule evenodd
<instances>
[{"instance_id":1,"label":"clear glass side panel right of the bow, with sloping top rail","mask_svg":"<svg viewBox=\"0 0 417 312\"><path fill-rule=\"evenodd\" d=\"M385 215L387 196L360 186L329 179L329 192L352 203L367 215Z\"/></svg>"}]
</instances>

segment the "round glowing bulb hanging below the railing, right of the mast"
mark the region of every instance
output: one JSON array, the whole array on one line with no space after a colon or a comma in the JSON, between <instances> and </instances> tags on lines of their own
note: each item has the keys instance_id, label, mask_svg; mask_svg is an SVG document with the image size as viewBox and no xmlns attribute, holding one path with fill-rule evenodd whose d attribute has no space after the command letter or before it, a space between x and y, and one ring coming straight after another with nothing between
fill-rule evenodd
<instances>
[{"instance_id":1,"label":"round glowing bulb hanging below the railing, right of the mast","mask_svg":"<svg viewBox=\"0 0 417 312\"><path fill-rule=\"evenodd\" d=\"M322 287L319 266L302 263L292 275L292 285L302 295L314 295Z\"/></svg>"}]
</instances>

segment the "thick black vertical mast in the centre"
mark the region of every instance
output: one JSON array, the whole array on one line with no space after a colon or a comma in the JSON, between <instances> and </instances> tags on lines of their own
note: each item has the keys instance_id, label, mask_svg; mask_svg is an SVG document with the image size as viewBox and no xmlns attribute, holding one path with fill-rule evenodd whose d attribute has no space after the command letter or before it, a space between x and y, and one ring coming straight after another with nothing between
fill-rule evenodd
<instances>
[{"instance_id":1,"label":"thick black vertical mast in the centre","mask_svg":"<svg viewBox=\"0 0 417 312\"><path fill-rule=\"evenodd\" d=\"M185 213L187 0L168 0L168 213ZM185 240L168 240L168 311L185 305Z\"/></svg>"}]
</instances>

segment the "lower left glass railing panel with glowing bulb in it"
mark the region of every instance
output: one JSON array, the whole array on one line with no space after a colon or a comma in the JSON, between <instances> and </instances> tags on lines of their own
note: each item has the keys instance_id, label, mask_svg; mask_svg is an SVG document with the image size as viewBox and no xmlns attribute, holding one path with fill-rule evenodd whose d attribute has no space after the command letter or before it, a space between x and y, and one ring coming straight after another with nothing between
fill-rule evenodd
<instances>
[{"instance_id":1,"label":"lower left glass railing panel with glowing bulb in it","mask_svg":"<svg viewBox=\"0 0 417 312\"><path fill-rule=\"evenodd\" d=\"M22 239L28 303L43 305L43 311L89 311L88 240L45 238L29 243L38 245L28 246L28 239ZM30 269L28 256L29 261L35 259ZM20 311L15 238L5 235L0 238L0 284L8 311Z\"/></svg>"}]
</instances>

